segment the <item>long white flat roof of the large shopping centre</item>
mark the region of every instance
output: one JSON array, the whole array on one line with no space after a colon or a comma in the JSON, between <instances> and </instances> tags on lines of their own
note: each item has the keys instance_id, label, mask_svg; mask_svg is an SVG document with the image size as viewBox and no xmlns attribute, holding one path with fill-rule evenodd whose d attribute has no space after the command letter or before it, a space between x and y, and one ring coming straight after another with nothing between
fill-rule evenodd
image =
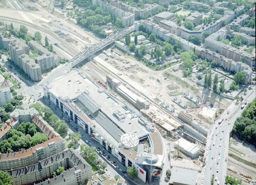
<instances>
[{"instance_id":1,"label":"long white flat roof of the large shopping centre","mask_svg":"<svg viewBox=\"0 0 256 185\"><path fill-rule=\"evenodd\" d=\"M95 120L92 120L92 122L97 129L103 127L104 130L102 130L102 132L105 132L106 130L113 138L115 138L115 140L120 141L122 133L134 133L139 138L150 133L145 127L138 123L138 115L140 113L137 110L120 101L117 97L105 90L99 92L100 86L96 85L88 78L83 79L77 71L71 71L67 75L51 82L50 85L51 89L49 89L49 91L51 93L56 96L68 96L71 100L74 100L74 103L81 110L85 110L86 107L82 109L84 103L76 101L76 97L84 95L84 92L88 93L87 96L90 97L91 103L100 105L101 110L101 112L94 116L97 123ZM95 105L94 107L99 107L98 105ZM95 108L93 108L93 111L94 110ZM105 116L110 118L112 122L108 118L105 119ZM121 130L118 129L116 125ZM118 130L111 128L116 128Z\"/></svg>"}]
</instances>

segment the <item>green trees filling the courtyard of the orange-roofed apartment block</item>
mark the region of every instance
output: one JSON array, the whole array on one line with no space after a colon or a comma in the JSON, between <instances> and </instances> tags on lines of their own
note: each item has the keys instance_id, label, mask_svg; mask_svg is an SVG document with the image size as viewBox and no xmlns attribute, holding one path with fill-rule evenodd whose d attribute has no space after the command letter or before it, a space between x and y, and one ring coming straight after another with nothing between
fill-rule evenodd
<instances>
[{"instance_id":1,"label":"green trees filling the courtyard of the orange-roofed apartment block","mask_svg":"<svg viewBox=\"0 0 256 185\"><path fill-rule=\"evenodd\" d=\"M0 151L10 153L26 150L47 140L46 134L37 132L35 124L21 123L17 129L10 129L7 132L6 139L0 143Z\"/></svg>"}]
</instances>

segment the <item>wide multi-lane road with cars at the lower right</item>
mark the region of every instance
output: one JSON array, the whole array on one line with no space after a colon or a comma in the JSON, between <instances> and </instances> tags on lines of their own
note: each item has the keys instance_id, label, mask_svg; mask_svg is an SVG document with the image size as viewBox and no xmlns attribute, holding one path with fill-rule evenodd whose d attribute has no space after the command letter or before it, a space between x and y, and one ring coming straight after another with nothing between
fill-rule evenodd
<instances>
[{"instance_id":1,"label":"wide multi-lane road with cars at the lower right","mask_svg":"<svg viewBox=\"0 0 256 185\"><path fill-rule=\"evenodd\" d=\"M255 87L248 90L247 95L244 97L243 104L245 101L248 103L251 102L254 97ZM245 107L247 105L245 105ZM212 175L214 175L214 184L225 184L229 135L233 128L234 121L243 111L240 106L240 103L237 104L233 101L220 115L220 118L223 118L222 123L218 124L219 119L216 119L216 121L210 126L204 156L206 165L202 170L203 177L201 184L210 184ZM227 114L228 111L229 114ZM225 121L226 118L227 120Z\"/></svg>"}]
</instances>

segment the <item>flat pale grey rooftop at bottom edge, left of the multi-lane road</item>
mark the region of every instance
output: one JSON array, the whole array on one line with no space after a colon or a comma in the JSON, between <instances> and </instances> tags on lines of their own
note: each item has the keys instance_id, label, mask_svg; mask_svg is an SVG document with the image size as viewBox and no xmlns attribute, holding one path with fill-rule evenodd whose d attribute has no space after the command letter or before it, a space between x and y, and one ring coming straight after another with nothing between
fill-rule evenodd
<instances>
[{"instance_id":1,"label":"flat pale grey rooftop at bottom edge, left of the multi-lane road","mask_svg":"<svg viewBox=\"0 0 256 185\"><path fill-rule=\"evenodd\" d=\"M197 184L197 170L173 167L169 184Z\"/></svg>"}]
</instances>

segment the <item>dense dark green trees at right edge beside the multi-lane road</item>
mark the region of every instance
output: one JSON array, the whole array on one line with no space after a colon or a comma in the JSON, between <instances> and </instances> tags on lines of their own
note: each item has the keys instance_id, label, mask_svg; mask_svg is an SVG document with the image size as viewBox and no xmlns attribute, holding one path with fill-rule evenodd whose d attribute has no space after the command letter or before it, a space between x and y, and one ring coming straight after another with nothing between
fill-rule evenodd
<instances>
[{"instance_id":1,"label":"dense dark green trees at right edge beside the multi-lane road","mask_svg":"<svg viewBox=\"0 0 256 185\"><path fill-rule=\"evenodd\" d=\"M256 146L256 99L248 104L234 123L233 132Z\"/></svg>"}]
</instances>

